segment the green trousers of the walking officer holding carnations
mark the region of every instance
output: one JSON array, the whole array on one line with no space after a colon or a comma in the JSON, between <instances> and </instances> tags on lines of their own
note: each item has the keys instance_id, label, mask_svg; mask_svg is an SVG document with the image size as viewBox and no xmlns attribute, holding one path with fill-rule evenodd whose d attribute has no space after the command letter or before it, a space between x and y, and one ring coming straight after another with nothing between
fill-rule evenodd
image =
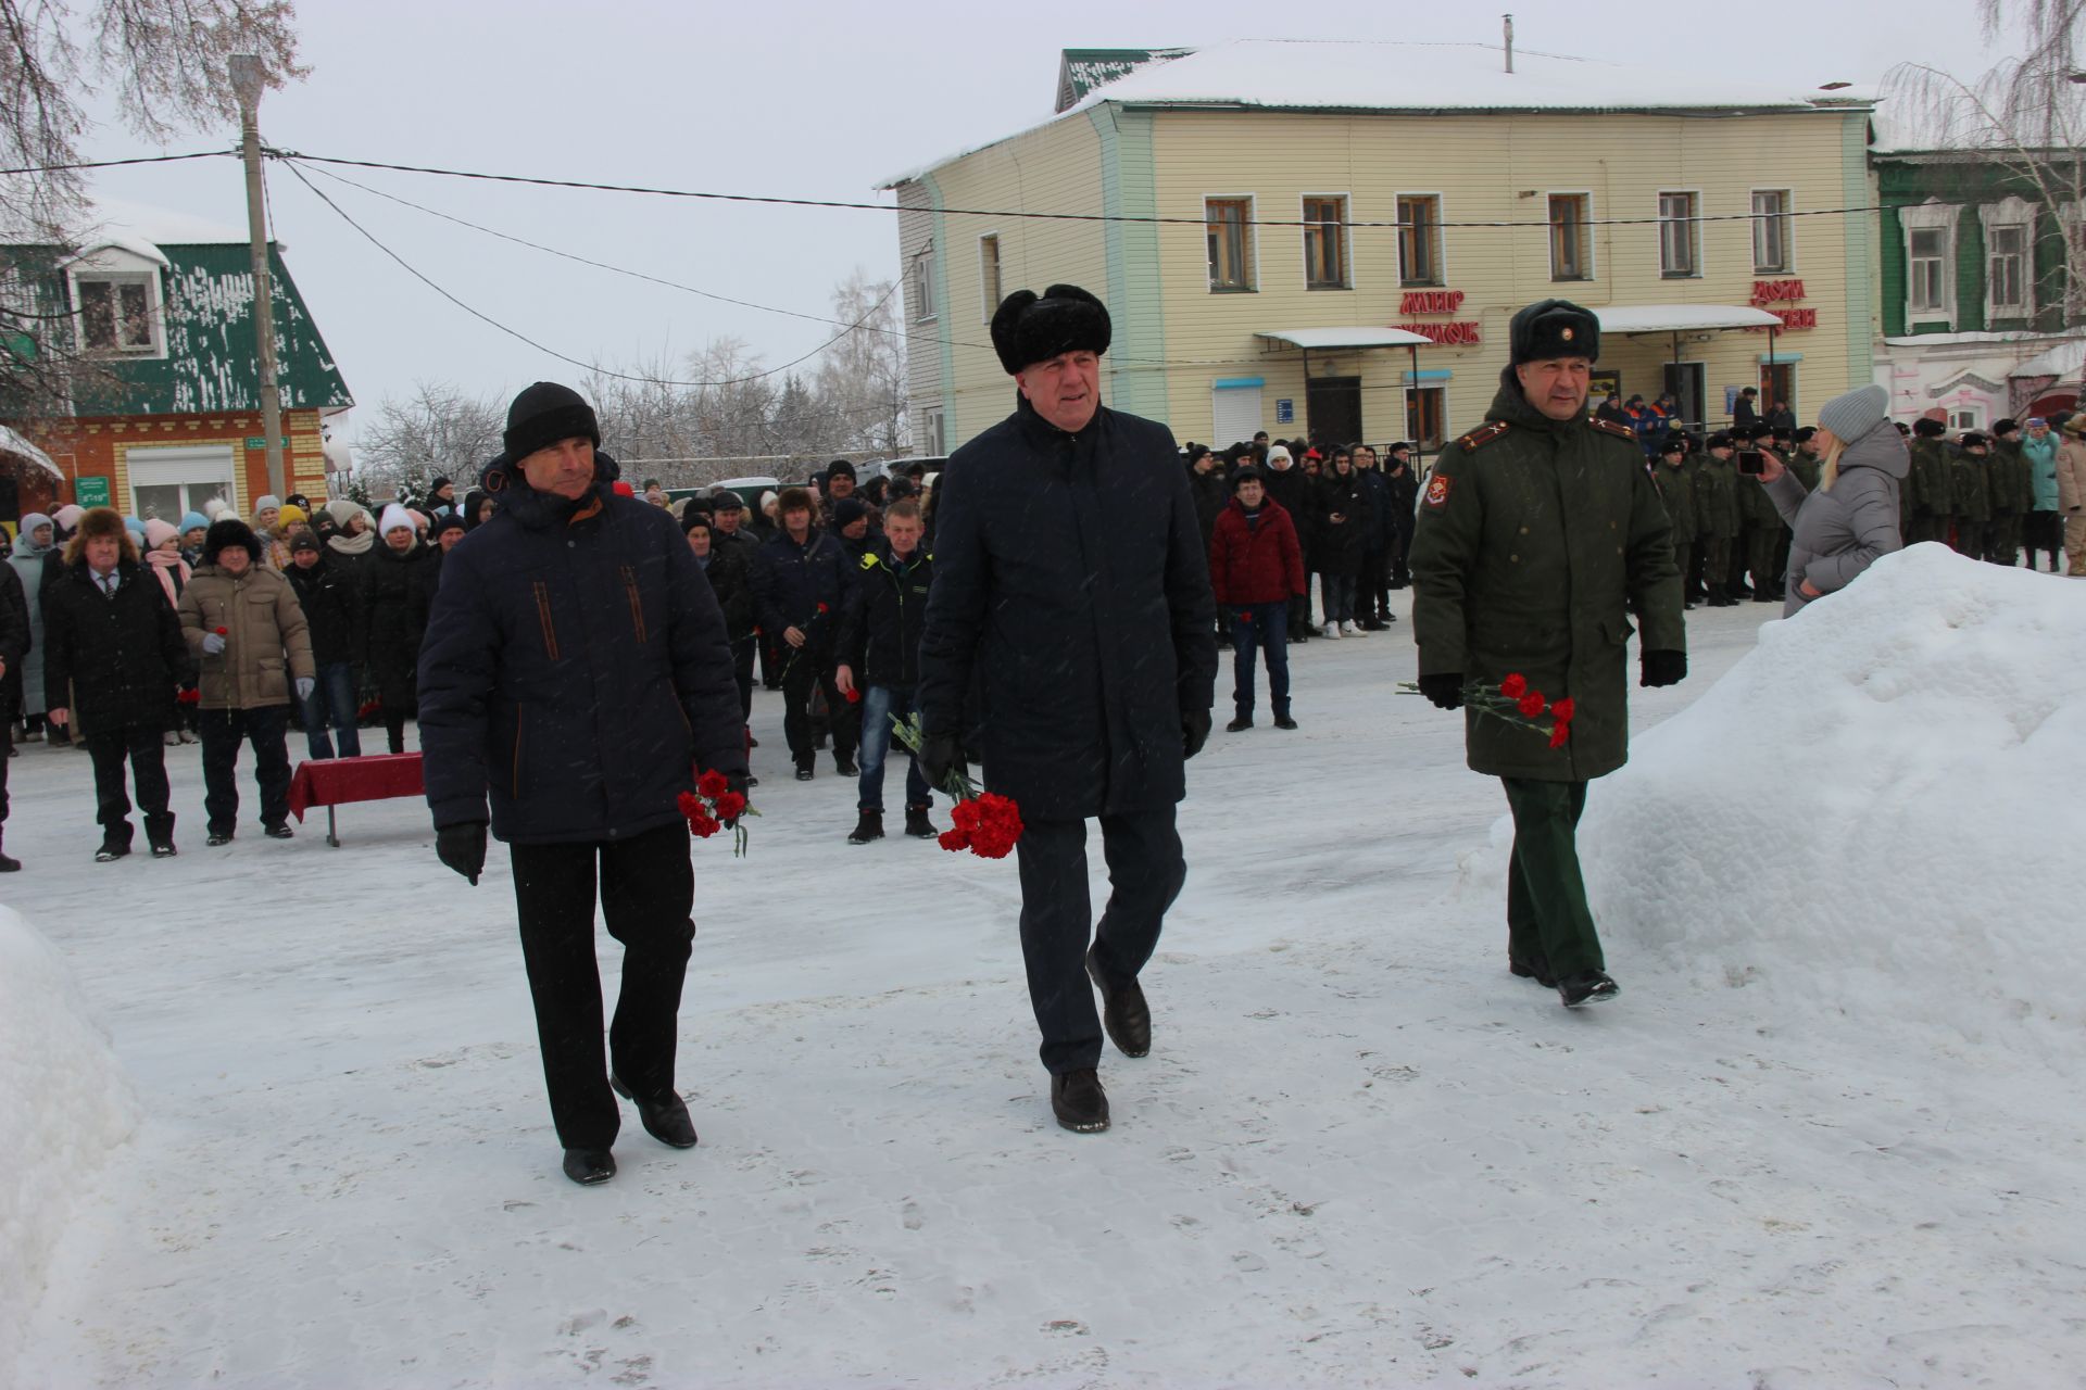
<instances>
[{"instance_id":1,"label":"green trousers of the walking officer holding carnations","mask_svg":"<svg viewBox=\"0 0 2086 1390\"><path fill-rule=\"evenodd\" d=\"M1514 813L1514 857L1506 867L1506 952L1548 961L1556 979L1604 969L1594 909L1579 877L1583 781L1500 777Z\"/></svg>"}]
</instances>

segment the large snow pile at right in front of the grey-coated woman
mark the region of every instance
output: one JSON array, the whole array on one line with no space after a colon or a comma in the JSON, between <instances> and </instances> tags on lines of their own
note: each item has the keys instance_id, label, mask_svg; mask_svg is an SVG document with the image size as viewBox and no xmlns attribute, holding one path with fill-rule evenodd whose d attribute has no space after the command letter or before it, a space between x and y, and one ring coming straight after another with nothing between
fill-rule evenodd
<instances>
[{"instance_id":1,"label":"large snow pile at right in front of the grey-coated woman","mask_svg":"<svg viewBox=\"0 0 2086 1390\"><path fill-rule=\"evenodd\" d=\"M2086 584L1923 544L1765 625L1596 784L1579 846L1625 988L1650 952L2078 1065L2082 788Z\"/></svg>"}]
</instances>

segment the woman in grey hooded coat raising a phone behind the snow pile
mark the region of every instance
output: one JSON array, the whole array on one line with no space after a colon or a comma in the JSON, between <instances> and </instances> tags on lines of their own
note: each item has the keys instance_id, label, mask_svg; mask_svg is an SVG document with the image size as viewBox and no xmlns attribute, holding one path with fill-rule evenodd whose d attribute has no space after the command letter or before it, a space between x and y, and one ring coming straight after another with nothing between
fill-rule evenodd
<instances>
[{"instance_id":1,"label":"woman in grey hooded coat raising a phone behind the snow pile","mask_svg":"<svg viewBox=\"0 0 2086 1390\"><path fill-rule=\"evenodd\" d=\"M1813 598L1844 590L1879 554L1898 550L1898 488L1911 469L1905 438L1890 423L1890 396L1865 386L1834 396L1819 408L1817 442L1823 446L1819 490L1767 454L1761 486L1790 523L1788 598L1781 617Z\"/></svg>"}]
</instances>

